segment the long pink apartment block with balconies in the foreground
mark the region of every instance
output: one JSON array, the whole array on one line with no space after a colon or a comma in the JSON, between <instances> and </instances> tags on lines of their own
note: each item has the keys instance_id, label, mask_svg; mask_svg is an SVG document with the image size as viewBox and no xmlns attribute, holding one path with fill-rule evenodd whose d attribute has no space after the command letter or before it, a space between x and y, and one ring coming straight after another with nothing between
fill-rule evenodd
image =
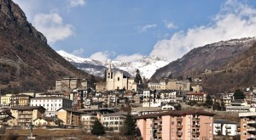
<instances>
[{"instance_id":1,"label":"long pink apartment block with balconies in the foreground","mask_svg":"<svg viewBox=\"0 0 256 140\"><path fill-rule=\"evenodd\" d=\"M212 140L213 115L198 109L140 115L137 127L143 140Z\"/></svg>"}]
</instances>

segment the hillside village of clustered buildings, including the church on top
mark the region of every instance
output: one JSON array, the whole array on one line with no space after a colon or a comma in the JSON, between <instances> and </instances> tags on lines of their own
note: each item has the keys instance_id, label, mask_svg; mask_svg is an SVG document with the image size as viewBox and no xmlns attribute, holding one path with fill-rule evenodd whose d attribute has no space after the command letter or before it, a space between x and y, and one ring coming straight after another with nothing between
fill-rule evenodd
<instances>
[{"instance_id":1,"label":"hillside village of clustered buildings, including the church on top","mask_svg":"<svg viewBox=\"0 0 256 140\"><path fill-rule=\"evenodd\" d=\"M137 137L145 140L256 137L255 88L210 95L203 92L201 78L166 78L145 87L137 76L112 70L109 64L106 81L91 84L65 76L48 92L2 93L1 124L9 129L84 128L90 133L99 120L106 132L119 133L132 115ZM215 118L218 112L235 112L241 121Z\"/></svg>"}]
</instances>

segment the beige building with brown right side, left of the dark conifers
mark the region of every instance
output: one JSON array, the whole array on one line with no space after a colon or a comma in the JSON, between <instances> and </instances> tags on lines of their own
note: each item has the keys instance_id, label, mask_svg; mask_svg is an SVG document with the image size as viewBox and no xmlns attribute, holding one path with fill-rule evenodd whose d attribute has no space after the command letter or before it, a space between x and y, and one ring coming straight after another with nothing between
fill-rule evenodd
<instances>
[{"instance_id":1,"label":"beige building with brown right side, left of the dark conifers","mask_svg":"<svg viewBox=\"0 0 256 140\"><path fill-rule=\"evenodd\" d=\"M63 120L63 125L66 126L81 126L81 115L83 111L73 109L58 109L57 117Z\"/></svg>"}]
</instances>

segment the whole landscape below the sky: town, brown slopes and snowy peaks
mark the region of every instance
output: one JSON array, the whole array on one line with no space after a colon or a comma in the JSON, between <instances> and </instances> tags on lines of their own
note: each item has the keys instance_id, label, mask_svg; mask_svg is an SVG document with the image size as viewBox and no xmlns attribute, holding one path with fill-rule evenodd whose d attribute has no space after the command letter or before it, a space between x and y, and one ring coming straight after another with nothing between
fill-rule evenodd
<instances>
[{"instance_id":1,"label":"whole landscape below the sky: town, brown slopes and snowy peaks","mask_svg":"<svg viewBox=\"0 0 256 140\"><path fill-rule=\"evenodd\" d=\"M0 20L3 140L256 139L256 37L103 63L55 51L12 0Z\"/></svg>"}]
</instances>

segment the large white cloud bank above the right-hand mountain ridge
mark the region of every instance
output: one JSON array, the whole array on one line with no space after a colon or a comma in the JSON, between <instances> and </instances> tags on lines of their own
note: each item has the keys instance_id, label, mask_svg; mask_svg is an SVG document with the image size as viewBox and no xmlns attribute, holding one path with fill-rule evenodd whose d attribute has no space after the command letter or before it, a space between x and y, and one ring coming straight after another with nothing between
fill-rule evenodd
<instances>
[{"instance_id":1,"label":"large white cloud bank above the right-hand mountain ridge","mask_svg":"<svg viewBox=\"0 0 256 140\"><path fill-rule=\"evenodd\" d=\"M154 45L150 55L175 60L192 48L207 43L235 38L256 36L256 9L238 1L224 3L220 12L208 25L177 31L169 40L161 40Z\"/></svg>"}]
</instances>

